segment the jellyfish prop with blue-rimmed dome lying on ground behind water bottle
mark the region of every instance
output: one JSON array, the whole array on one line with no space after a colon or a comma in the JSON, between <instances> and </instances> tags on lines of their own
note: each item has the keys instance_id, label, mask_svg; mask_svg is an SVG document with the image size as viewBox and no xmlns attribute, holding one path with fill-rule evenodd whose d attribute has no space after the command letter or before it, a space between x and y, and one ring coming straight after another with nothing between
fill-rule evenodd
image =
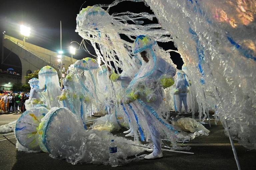
<instances>
[{"instance_id":1,"label":"jellyfish prop with blue-rimmed dome lying on ground behind water bottle","mask_svg":"<svg viewBox=\"0 0 256 170\"><path fill-rule=\"evenodd\" d=\"M131 146L133 143L123 137L113 136L108 131L84 130L82 122L67 108L54 108L42 119L38 130L40 147L55 159L66 159L77 164L108 163L109 144L114 139L118 147L120 163L127 162L127 156L144 151Z\"/></svg>"}]
</instances>

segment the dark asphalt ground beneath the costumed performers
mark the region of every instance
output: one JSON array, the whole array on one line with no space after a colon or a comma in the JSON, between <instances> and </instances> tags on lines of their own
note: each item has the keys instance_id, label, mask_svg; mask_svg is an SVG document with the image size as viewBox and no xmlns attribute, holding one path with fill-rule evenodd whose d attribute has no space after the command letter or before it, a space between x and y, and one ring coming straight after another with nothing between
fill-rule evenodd
<instances>
[{"instance_id":1,"label":"dark asphalt ground beneath the costumed performers","mask_svg":"<svg viewBox=\"0 0 256 170\"><path fill-rule=\"evenodd\" d=\"M171 116L174 116L172 113ZM17 119L19 115L0 115L0 123L8 122ZM2 124L2 123L1 123ZM0 125L1 125L0 124ZM235 170L237 169L233 151L230 145L229 138L225 136L224 129L220 122L215 125L214 120L211 120L211 128L205 125L211 132L208 136L198 136L195 139L187 142L185 145L190 145L189 152L195 154L177 154L163 151L163 158L155 160L140 160L130 162L127 165L111 167L98 164L77 164L72 165L64 160L55 160L49 157L48 153L25 153L18 152L15 148L16 139L12 138L13 134L6 135L0 133L0 170ZM124 136L122 133L126 129L120 129L113 132L118 136ZM8 137L11 136L11 137ZM6 140L3 140L6 139ZM133 139L129 137L129 139ZM239 145L236 141L235 148L242 170L256 169L256 151L249 150ZM165 145L169 143L164 143ZM148 152L142 153L148 154Z\"/></svg>"}]
</instances>

